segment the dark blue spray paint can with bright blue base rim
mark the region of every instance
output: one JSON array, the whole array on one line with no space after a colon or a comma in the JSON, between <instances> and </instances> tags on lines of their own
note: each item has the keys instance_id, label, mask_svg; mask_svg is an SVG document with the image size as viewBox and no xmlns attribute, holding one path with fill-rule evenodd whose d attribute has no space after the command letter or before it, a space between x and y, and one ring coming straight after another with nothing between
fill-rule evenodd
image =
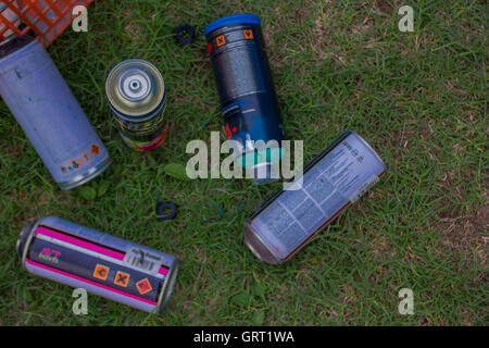
<instances>
[{"instance_id":1,"label":"dark blue spray paint can with bright blue base rim","mask_svg":"<svg viewBox=\"0 0 489 348\"><path fill-rule=\"evenodd\" d=\"M204 35L226 135L240 145L235 149L238 163L254 172L255 184L277 179L278 175L272 175L272 162L283 156L280 141L285 130L260 17L254 14L225 16L209 24ZM272 140L275 145L268 142ZM266 148L256 146L256 141L266 144Z\"/></svg>"}]
</instances>

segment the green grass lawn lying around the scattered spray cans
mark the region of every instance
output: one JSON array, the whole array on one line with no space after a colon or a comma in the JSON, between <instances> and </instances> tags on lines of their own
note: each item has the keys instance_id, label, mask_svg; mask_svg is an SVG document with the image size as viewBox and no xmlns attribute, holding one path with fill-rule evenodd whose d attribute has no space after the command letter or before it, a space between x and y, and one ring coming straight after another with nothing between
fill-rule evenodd
<instances>
[{"instance_id":1,"label":"green grass lawn lying around the scattered spray cans","mask_svg":"<svg viewBox=\"0 0 489 348\"><path fill-rule=\"evenodd\" d=\"M485 1L97 1L89 32L66 30L49 52L108 147L113 164L92 201L61 191L0 102L0 324L3 325L484 325L488 323L488 8ZM397 10L414 8L415 32ZM279 184L183 182L186 144L222 130L203 27L231 13L263 20L289 139L311 160L346 128L388 163L388 175L284 265L242 243L246 217ZM172 28L188 22L195 44ZM141 58L164 74L171 136L151 153L117 135L104 82ZM224 139L224 133L223 133ZM178 217L161 223L158 199ZM89 296L74 315L70 287L27 274L14 245L34 217L54 214L183 259L156 316ZM414 291L415 314L398 313ZM244 299L240 304L238 299Z\"/></svg>"}]
</instances>

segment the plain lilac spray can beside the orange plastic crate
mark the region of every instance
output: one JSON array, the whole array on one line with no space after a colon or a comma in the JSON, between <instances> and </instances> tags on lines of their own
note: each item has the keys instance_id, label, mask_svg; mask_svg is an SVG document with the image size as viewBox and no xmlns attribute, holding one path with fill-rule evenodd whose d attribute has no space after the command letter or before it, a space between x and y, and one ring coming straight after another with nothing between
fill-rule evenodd
<instances>
[{"instance_id":1,"label":"plain lilac spray can beside the orange plastic crate","mask_svg":"<svg viewBox=\"0 0 489 348\"><path fill-rule=\"evenodd\" d=\"M0 46L0 96L62 189L111 163L109 153L42 45L10 37Z\"/></svg>"}]
</instances>

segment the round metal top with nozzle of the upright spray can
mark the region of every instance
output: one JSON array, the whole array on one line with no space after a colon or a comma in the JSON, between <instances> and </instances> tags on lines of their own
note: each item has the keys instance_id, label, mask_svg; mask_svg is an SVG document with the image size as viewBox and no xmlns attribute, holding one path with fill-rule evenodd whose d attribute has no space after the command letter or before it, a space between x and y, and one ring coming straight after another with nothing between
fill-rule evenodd
<instances>
[{"instance_id":1,"label":"round metal top with nozzle of the upright spray can","mask_svg":"<svg viewBox=\"0 0 489 348\"><path fill-rule=\"evenodd\" d=\"M145 116L162 102L165 83L153 64L141 59L129 59L110 72L105 94L118 113Z\"/></svg>"}]
</instances>

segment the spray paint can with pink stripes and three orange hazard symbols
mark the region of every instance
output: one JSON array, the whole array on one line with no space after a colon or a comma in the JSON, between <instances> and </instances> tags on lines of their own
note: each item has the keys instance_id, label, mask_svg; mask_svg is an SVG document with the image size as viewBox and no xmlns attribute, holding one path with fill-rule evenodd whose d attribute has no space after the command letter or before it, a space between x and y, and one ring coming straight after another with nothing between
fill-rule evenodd
<instances>
[{"instance_id":1,"label":"spray paint can with pink stripes and three orange hazard symbols","mask_svg":"<svg viewBox=\"0 0 489 348\"><path fill-rule=\"evenodd\" d=\"M156 314L179 265L170 254L55 216L26 226L16 249L29 273Z\"/></svg>"}]
</instances>

